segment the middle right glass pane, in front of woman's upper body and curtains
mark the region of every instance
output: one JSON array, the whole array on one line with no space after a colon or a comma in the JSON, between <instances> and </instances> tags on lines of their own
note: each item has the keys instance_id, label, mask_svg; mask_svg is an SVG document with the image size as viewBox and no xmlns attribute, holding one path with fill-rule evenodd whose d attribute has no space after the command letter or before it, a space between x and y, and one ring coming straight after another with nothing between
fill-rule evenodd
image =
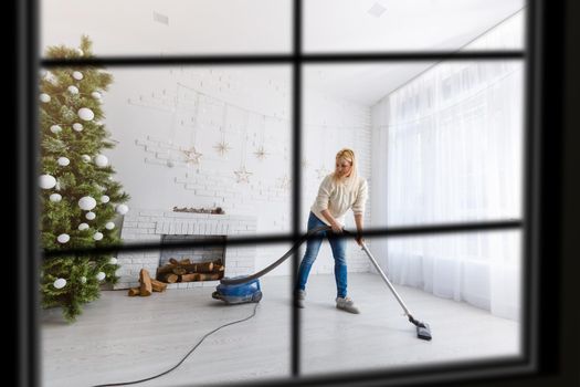
<instances>
[{"instance_id":1,"label":"middle right glass pane, in front of woman's upper body and curtains","mask_svg":"<svg viewBox=\"0 0 580 387\"><path fill-rule=\"evenodd\" d=\"M313 207L324 217L321 199L351 230L355 210L372 228L521 218L521 61L307 65L304 74L303 227ZM354 150L367 192L339 197L339 179L321 198L342 148Z\"/></svg>"}]
</instances>

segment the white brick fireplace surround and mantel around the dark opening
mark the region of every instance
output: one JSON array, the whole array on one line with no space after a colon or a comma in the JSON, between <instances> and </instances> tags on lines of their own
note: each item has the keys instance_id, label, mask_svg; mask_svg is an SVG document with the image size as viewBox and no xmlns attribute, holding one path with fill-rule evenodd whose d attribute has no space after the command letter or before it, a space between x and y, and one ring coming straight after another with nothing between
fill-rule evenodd
<instances>
[{"instance_id":1,"label":"white brick fireplace surround and mantel around the dark opening","mask_svg":"<svg viewBox=\"0 0 580 387\"><path fill-rule=\"evenodd\" d=\"M180 239L179 236L243 237L256 232L256 218L250 216L175 212L164 210L131 209L123 219L120 238L124 243L160 242ZM228 247L224 250L225 276L251 274L255 271L255 247ZM139 285L139 271L146 269L155 275L161 259L160 251L120 252L117 275L119 282L114 289L129 289ZM183 282L169 284L168 289L215 286L219 281Z\"/></svg>"}]
</instances>

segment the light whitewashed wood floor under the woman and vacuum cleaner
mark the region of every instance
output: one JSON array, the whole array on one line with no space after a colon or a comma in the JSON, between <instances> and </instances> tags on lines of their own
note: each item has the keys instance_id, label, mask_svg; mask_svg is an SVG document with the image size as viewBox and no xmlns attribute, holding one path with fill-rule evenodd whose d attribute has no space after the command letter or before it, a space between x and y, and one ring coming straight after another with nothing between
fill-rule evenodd
<instances>
[{"instance_id":1,"label":"light whitewashed wood floor under the woman and vacuum cleaner","mask_svg":"<svg viewBox=\"0 0 580 387\"><path fill-rule=\"evenodd\" d=\"M349 295L361 310L335 307L333 275L312 275L302 313L305 375L393 368L519 354L519 324L465 303L398 286L415 317L431 325L433 341L414 326L382 280L349 274ZM180 386L263 380L289 375L289 279L265 276L256 315L209 336L172 373L137 386ZM72 325L59 310L43 311L44 386L93 386L161 373L208 332L251 315L254 304L226 306L211 287L169 290L150 297L106 291Z\"/></svg>"}]
</instances>

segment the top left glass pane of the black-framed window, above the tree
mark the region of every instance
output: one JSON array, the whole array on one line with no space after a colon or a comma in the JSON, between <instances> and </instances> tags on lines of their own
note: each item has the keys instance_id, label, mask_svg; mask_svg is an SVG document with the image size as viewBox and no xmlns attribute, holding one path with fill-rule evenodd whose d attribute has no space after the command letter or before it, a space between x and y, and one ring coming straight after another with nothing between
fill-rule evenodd
<instances>
[{"instance_id":1,"label":"top left glass pane of the black-framed window, above the tree","mask_svg":"<svg viewBox=\"0 0 580 387\"><path fill-rule=\"evenodd\" d=\"M292 42L291 0L45 0L40 21L42 51L87 35L97 56L284 53Z\"/></svg>"}]
</instances>

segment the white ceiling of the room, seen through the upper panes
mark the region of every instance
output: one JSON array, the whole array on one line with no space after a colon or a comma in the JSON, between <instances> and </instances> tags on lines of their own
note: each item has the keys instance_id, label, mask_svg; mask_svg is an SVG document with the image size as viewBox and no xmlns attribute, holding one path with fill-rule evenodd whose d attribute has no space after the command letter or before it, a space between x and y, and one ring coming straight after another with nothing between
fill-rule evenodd
<instances>
[{"instance_id":1,"label":"white ceiling of the room, seen through the upper panes","mask_svg":"<svg viewBox=\"0 0 580 387\"><path fill-rule=\"evenodd\" d=\"M304 49L456 50L524 6L524 0L306 0ZM371 9L384 12L376 17ZM40 42L42 51L75 46L88 34L97 55L283 53L292 49L291 28L291 0L44 0ZM432 64L307 65L304 80L306 87L370 106Z\"/></svg>"}]
</instances>

